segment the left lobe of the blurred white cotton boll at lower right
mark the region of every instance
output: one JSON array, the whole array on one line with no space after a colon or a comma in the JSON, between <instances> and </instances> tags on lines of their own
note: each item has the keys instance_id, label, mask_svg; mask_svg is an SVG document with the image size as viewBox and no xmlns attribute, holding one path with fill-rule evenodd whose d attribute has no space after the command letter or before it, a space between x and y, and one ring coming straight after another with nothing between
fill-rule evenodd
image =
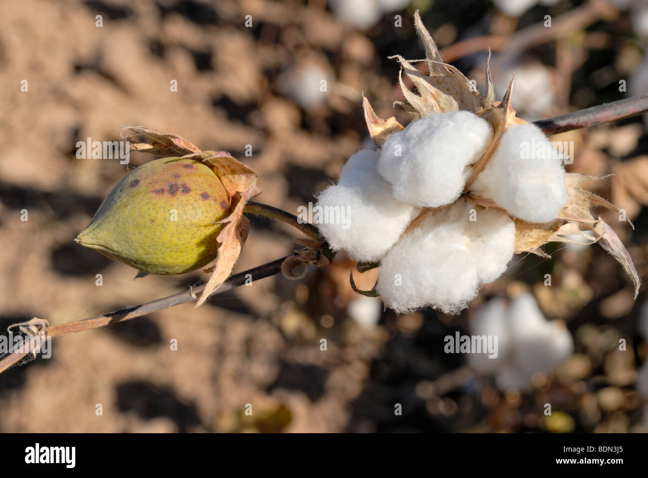
<instances>
[{"instance_id":1,"label":"left lobe of the blurred white cotton boll at lower right","mask_svg":"<svg viewBox=\"0 0 648 478\"><path fill-rule=\"evenodd\" d=\"M470 321L470 334L473 336L497 337L497 356L489 354L468 354L468 363L478 372L491 373L501 369L509 359L511 334L507 315L506 301L496 297L481 306Z\"/></svg>"}]
</instances>

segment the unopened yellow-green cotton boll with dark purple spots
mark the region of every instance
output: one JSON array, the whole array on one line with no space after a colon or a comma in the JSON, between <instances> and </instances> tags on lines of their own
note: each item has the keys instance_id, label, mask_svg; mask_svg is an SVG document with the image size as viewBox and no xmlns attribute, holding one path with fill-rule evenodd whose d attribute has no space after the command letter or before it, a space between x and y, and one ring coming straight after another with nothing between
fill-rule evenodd
<instances>
[{"instance_id":1,"label":"unopened yellow-green cotton boll with dark purple spots","mask_svg":"<svg viewBox=\"0 0 648 478\"><path fill-rule=\"evenodd\" d=\"M100 205L78 244L152 274L200 269L216 258L229 195L213 170L165 157L129 172Z\"/></svg>"}]
</instances>

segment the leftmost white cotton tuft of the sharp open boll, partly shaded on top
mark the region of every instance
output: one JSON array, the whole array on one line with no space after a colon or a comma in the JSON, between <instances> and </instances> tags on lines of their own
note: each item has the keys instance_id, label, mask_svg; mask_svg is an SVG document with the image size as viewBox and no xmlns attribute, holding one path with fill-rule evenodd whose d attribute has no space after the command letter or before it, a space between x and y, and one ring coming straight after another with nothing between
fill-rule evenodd
<instances>
[{"instance_id":1,"label":"leftmost white cotton tuft of the sharp open boll, partly shaded on top","mask_svg":"<svg viewBox=\"0 0 648 478\"><path fill-rule=\"evenodd\" d=\"M313 221L332 249L344 249L354 260L379 260L419 212L391 196L376 172L377 158L369 150L351 156L338 185L323 190L314 208Z\"/></svg>"}]
</instances>

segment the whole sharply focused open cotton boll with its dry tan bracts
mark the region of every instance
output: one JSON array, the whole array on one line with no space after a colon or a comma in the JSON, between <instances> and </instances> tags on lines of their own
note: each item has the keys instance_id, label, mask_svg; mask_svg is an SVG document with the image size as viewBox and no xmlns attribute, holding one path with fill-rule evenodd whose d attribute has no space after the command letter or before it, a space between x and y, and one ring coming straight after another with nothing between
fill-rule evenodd
<instances>
[{"instance_id":1,"label":"whole sharply focused open cotton boll with its dry tan bracts","mask_svg":"<svg viewBox=\"0 0 648 478\"><path fill-rule=\"evenodd\" d=\"M516 117L513 80L496 102L487 62L480 95L443 63L418 12L415 27L429 73L393 57L411 122L379 118L364 98L378 150L351 156L338 183L318 196L321 211L349 211L345 222L318 223L330 247L346 251L360 271L380 266L373 290L359 292L380 295L399 313L431 306L455 314L506 271L514 254L548 257L548 242L584 241L610 252L637 293L630 256L593 211L618 209L579 187L595 177L566 173L542 130ZM403 72L418 94L405 86Z\"/></svg>"}]
</instances>

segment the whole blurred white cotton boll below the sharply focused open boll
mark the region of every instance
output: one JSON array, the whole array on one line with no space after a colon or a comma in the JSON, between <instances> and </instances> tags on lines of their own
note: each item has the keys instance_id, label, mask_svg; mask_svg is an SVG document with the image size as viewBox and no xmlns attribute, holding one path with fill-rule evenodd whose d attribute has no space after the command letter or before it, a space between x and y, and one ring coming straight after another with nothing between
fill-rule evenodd
<instances>
[{"instance_id":1,"label":"whole blurred white cotton boll below the sharply focused open boll","mask_svg":"<svg viewBox=\"0 0 648 478\"><path fill-rule=\"evenodd\" d=\"M548 373L573 352L564 322L547 321L531 293L486 302L470 322L475 336L497 337L497 356L469 354L472 369L492 374L501 391L526 389L538 372Z\"/></svg>"}]
</instances>

